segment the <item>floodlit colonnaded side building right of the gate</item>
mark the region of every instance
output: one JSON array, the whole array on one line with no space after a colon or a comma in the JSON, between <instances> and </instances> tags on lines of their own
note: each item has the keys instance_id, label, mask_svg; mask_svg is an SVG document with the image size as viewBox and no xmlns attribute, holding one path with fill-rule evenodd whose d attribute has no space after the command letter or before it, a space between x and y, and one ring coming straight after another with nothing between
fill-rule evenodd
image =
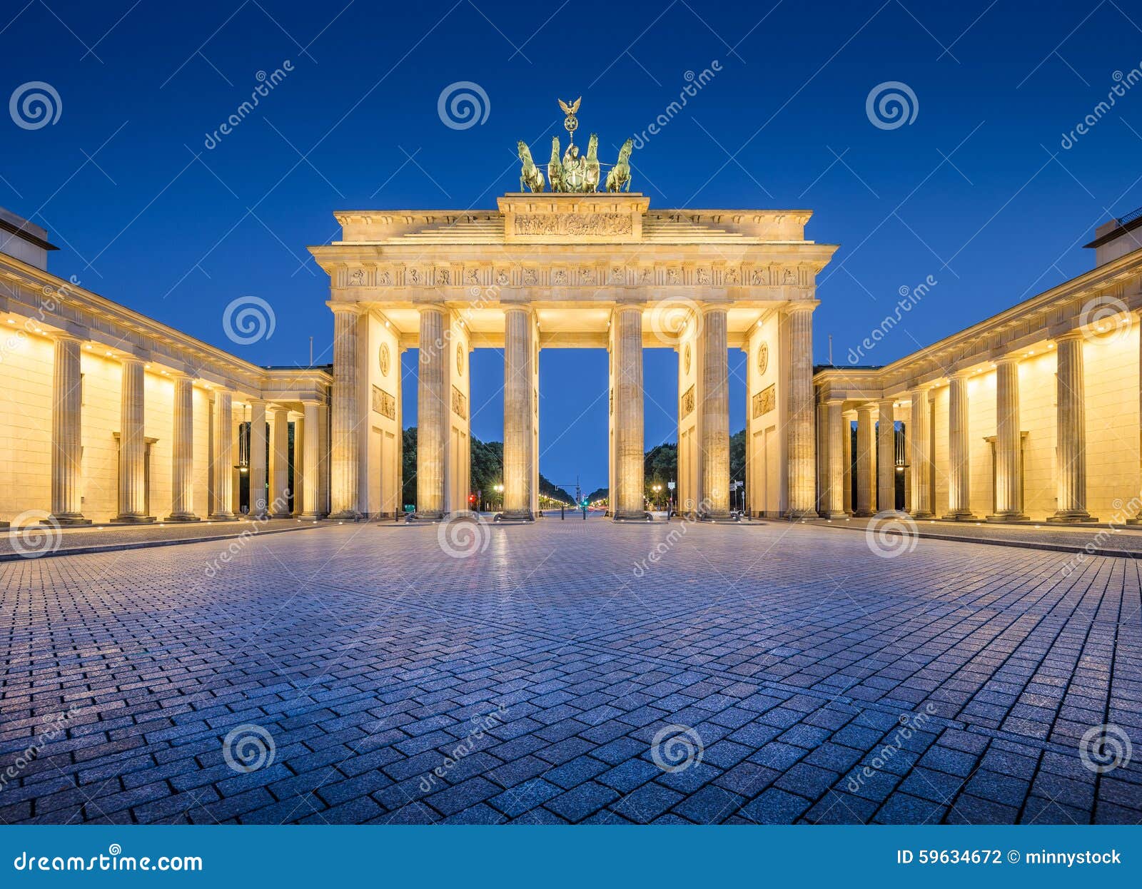
<instances>
[{"instance_id":1,"label":"floodlit colonnaded side building right of the gate","mask_svg":"<svg viewBox=\"0 0 1142 889\"><path fill-rule=\"evenodd\" d=\"M819 370L822 515L1135 519L1142 213L1095 235L1078 277L891 364ZM906 296L862 348L924 297Z\"/></svg>"}]
</instances>

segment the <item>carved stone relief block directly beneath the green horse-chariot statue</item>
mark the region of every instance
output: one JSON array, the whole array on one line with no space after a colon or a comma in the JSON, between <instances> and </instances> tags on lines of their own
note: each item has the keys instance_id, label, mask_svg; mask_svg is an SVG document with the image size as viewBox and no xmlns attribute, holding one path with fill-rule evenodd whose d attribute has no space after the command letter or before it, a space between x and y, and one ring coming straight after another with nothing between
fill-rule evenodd
<instances>
[{"instance_id":1,"label":"carved stone relief block directly beneath the green horse-chariot statue","mask_svg":"<svg viewBox=\"0 0 1142 889\"><path fill-rule=\"evenodd\" d=\"M515 244L604 243L642 240L650 199L641 194L506 194L498 199L504 241Z\"/></svg>"}]
</instances>

